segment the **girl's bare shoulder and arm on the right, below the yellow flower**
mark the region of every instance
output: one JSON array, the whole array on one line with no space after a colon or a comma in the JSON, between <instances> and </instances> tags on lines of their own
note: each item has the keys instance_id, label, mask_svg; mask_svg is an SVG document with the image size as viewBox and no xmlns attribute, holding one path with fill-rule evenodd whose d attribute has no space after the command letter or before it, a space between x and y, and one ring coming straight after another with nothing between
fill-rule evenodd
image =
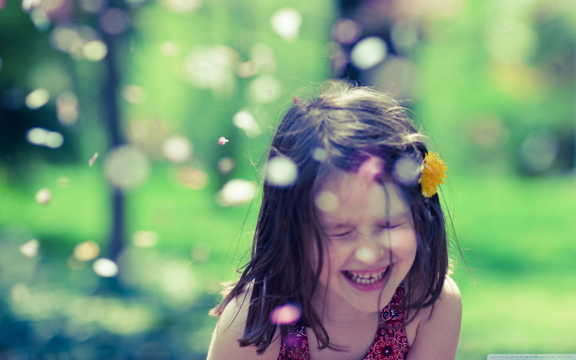
<instances>
[{"instance_id":1,"label":"girl's bare shoulder and arm on the right, below the yellow flower","mask_svg":"<svg viewBox=\"0 0 576 360\"><path fill-rule=\"evenodd\" d=\"M446 275L444 286L430 320L431 307L422 311L416 329L416 338L407 360L414 359L454 359L460 336L462 321L462 298L456 282Z\"/></svg>"}]
</instances>

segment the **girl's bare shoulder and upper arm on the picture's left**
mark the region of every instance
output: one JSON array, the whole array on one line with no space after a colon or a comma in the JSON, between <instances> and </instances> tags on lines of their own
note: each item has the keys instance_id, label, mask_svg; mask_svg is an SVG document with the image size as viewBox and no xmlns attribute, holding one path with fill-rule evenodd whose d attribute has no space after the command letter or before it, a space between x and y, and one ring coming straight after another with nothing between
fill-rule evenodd
<instances>
[{"instance_id":1,"label":"girl's bare shoulder and upper arm on the picture's left","mask_svg":"<svg viewBox=\"0 0 576 360\"><path fill-rule=\"evenodd\" d=\"M278 354L280 353L280 336L278 336L278 329L276 329L274 340L272 340L272 343L262 355L256 354L255 346L240 347L238 343L238 339L242 338L244 334L250 295L250 289L245 290L226 305L212 335L207 360L224 360L231 358L238 360L278 359Z\"/></svg>"}]
</instances>

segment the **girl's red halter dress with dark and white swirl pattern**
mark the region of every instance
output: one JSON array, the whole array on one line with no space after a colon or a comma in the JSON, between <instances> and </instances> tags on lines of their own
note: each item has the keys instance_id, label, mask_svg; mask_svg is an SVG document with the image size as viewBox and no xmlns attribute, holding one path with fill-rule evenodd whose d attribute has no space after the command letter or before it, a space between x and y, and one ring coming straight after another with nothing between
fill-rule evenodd
<instances>
[{"instance_id":1,"label":"girl's red halter dress with dark and white swirl pattern","mask_svg":"<svg viewBox=\"0 0 576 360\"><path fill-rule=\"evenodd\" d=\"M404 323L404 283L396 288L392 299L381 311L380 326L370 350L363 360L403 360L408 353L406 331L400 328ZM384 325L382 325L384 324ZM291 345L291 346L289 346ZM306 327L293 324L287 338L282 337L278 360L310 360Z\"/></svg>"}]
</instances>

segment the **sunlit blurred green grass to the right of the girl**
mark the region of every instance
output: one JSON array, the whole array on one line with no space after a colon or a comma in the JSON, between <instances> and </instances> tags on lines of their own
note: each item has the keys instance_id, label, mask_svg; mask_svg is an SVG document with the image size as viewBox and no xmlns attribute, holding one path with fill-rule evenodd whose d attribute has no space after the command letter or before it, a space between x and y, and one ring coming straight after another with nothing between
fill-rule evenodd
<instances>
[{"instance_id":1,"label":"sunlit blurred green grass to the right of the girl","mask_svg":"<svg viewBox=\"0 0 576 360\"><path fill-rule=\"evenodd\" d=\"M574 178L461 176L454 226L468 271L457 359L488 354L574 353ZM463 263L463 262L461 262Z\"/></svg>"}]
</instances>

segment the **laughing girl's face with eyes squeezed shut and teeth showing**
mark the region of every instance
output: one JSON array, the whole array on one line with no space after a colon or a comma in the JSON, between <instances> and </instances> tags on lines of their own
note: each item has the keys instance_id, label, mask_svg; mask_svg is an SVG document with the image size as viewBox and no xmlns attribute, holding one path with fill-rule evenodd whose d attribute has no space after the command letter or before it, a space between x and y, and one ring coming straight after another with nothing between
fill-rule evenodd
<instances>
[{"instance_id":1,"label":"laughing girl's face with eyes squeezed shut and teeth showing","mask_svg":"<svg viewBox=\"0 0 576 360\"><path fill-rule=\"evenodd\" d=\"M410 206L398 185L374 180L378 166L370 161L375 160L367 160L357 172L329 177L316 195L317 211L329 236L320 283L328 287L329 304L345 302L362 312L384 308L416 256Z\"/></svg>"}]
</instances>

